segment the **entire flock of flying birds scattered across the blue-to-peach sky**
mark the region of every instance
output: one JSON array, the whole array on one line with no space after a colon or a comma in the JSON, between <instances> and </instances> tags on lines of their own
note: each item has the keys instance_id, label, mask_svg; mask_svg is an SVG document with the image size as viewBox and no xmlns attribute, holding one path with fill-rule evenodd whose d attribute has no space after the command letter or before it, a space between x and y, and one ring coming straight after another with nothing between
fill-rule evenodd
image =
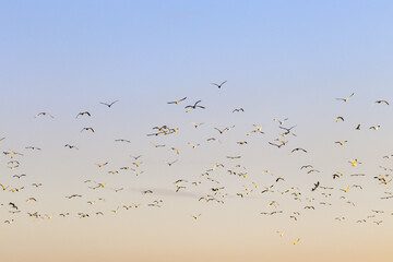
<instances>
[{"instance_id":1,"label":"entire flock of flying birds scattered across the blue-to-peach sky","mask_svg":"<svg viewBox=\"0 0 393 262\"><path fill-rule=\"evenodd\" d=\"M212 83L212 85L216 86L219 90L223 90L227 81L224 81L222 83ZM354 93L345 98L336 98L338 102L343 103L349 103L352 98L354 97ZM202 100L196 100L195 103L190 103L190 105L187 103L187 97L182 97L177 100L167 102L167 105L171 106L179 106L182 108L186 112L190 111L198 111L198 110L207 110L206 106L203 105ZM100 103L103 106L106 106L109 109L111 109L114 106L117 105L119 100L115 100L111 103ZM374 104L389 106L389 103L386 100L376 100ZM184 105L184 106L181 106ZM242 114L245 111L243 108L235 108L231 110L231 114ZM46 111L38 112L35 118L43 118L48 117L50 119L55 119L55 117ZM81 111L79 112L75 118L93 118L92 114L90 111ZM273 119L273 121L277 124L277 128L279 132L277 133L277 136L273 141L267 141L266 145L271 146L272 148L276 147L281 151L286 151L284 148L288 147L288 141L290 138L295 138L298 134L296 133L297 126L287 126L286 122L288 121L288 118L285 119ZM335 118L335 122L343 122L344 117L337 116ZM193 128L195 130L202 129L205 123L200 122L191 122ZM224 127L224 128L216 128L214 127L210 132L212 133L211 138L207 138L205 141L206 143L223 143L223 138L226 135L226 133L230 132L233 129L235 129L236 126L230 127ZM358 124L354 128L355 131L359 131L361 129L361 124ZM373 126L369 127L371 130L379 130L380 126ZM91 132L95 133L95 129L92 127L85 127L80 132ZM164 126L156 126L152 128L152 132L146 133L147 136L166 136L166 135L176 135L177 133L181 132L180 128L174 128L168 127L166 124ZM251 138L252 135L264 135L265 131L261 124L252 124L252 130L250 130L248 133L243 134L239 141L237 141L238 146L247 146L250 143L250 140L248 138ZM0 146L1 142L3 142L7 138L0 139ZM131 143L130 140L127 139L118 139L115 140L116 143ZM165 160L165 165L168 167L172 167L177 165L177 163L181 162L181 148L177 148L172 145L167 144L156 144L150 141L151 145L155 148L168 148L169 154L172 154L170 156L178 157L177 159L172 160ZM343 141L334 141L334 144L337 146L346 146L348 143L347 140ZM200 143L191 143L189 142L187 146L190 146L192 150L195 150L196 147L201 146ZM67 150L75 150L79 151L80 148L76 145L73 144L64 144L64 148ZM75 214L72 214L70 212L63 212L59 214L47 214L47 213L40 213L38 211L34 211L31 209L31 204L34 202L39 201L38 198L34 196L34 190L40 190L45 187L45 181L34 182L34 183L23 183L24 179L28 177L28 174L15 174L17 172L19 168L23 166L23 159L28 151L41 151L41 147L38 146L25 146L23 151L14 151L14 150L1 150L3 157L7 157L7 169L11 171L11 177L14 179L14 182L19 182L19 186L13 186L12 183L5 183L0 181L0 193L10 193L12 195L13 193L19 193L21 191L28 191L32 196L28 196L23 202L16 202L16 201L9 201L7 203L0 203L1 209L8 209L9 217L3 221L3 224L13 224L17 222L19 215L25 215L32 219L51 219L55 217L68 217L68 216L76 216L80 218L88 218L93 216L103 216L106 213L112 213L117 214L120 213L121 210L128 211L128 210L134 210L141 206L141 203L121 203L118 206L115 206L112 209L109 209L107 211L97 210L94 213L87 213L87 212L79 212ZM196 152L196 151L195 151ZM293 154L309 154L309 151L303 147L291 147L288 151L286 151L288 155ZM195 153L198 154L198 153ZM119 175L120 172L129 171L136 177L145 176L144 171L144 156L136 155L130 156L131 160L129 165L124 165L121 167L117 167L115 169L109 169L111 159L108 159L104 163L91 163L92 166L95 166L95 168L99 170L105 170L108 175ZM392 155L385 155L381 156L382 159L391 159L393 157ZM276 216L276 215L286 215L288 219L291 219L294 222L298 221L301 217L301 214L303 212L313 211L315 209L319 209L319 206L329 206L332 205L331 200L332 199L338 199L340 201L343 201L344 203L348 204L349 206L356 206L356 203L354 203L349 195L353 190L362 190L365 184L361 182L361 177L367 177L367 174L359 174L354 172L346 175L343 171L337 171L335 174L331 175L332 184L334 184L335 181L341 180L343 177L350 177L356 179L357 183L354 184L346 184L343 188L340 188L338 186L331 186L331 184L323 184L320 179L315 178L315 181L309 186L309 188L300 189L299 187L291 186L291 184L285 184L286 183L286 177L283 176L276 176L273 171L264 170L262 171L261 176L270 176L272 177L272 183L270 184L260 184L255 181L249 181L249 171L248 168L242 165L242 155L226 155L222 162L215 162L211 168L203 169L200 171L198 176L193 178L192 181L189 181L186 178L179 178L175 181L171 181L172 183L172 191L174 193L181 193L187 192L191 187L193 189L200 188L201 184L206 184L201 192L199 192L199 196L195 198L195 201L198 202L205 202L205 203L217 203L217 204L225 204L227 199L246 199L250 195L260 195L264 196L266 194L271 195L271 198L276 198L275 200L270 201L270 203L266 205L265 210L260 212L261 216ZM350 167L356 167L358 165L361 165L362 163L359 162L357 158L355 159L347 159L347 165ZM381 168L381 175L376 175L372 177L372 179L376 181L376 183L381 184L381 193L383 194L380 199L381 200L389 200L393 199L393 192L389 191L389 184L392 181L392 175L390 175L393 169L390 169L385 166L380 166ZM312 164L307 165L299 165L299 170L305 174L319 174L322 172L322 170L317 169ZM221 175L217 175L217 174ZM4 175L3 175L4 176ZM3 179L4 177L1 177ZM235 176L238 177L239 180L239 188L237 192L229 192L227 191L227 187L225 184L226 176ZM109 178L108 178L109 179ZM82 182L82 181L81 181ZM114 188L109 186L108 182L103 181L96 181L96 179L88 179L84 180L83 184L85 184L86 190L92 191L99 191L99 190L111 190L117 192L127 190L127 184L124 184L121 188ZM283 184L283 186L282 186ZM337 184L337 183L335 183ZM145 189L141 190L141 195L154 195L156 194L154 189ZM158 193L159 194L159 193ZM293 200L297 203L300 203L302 207L296 207L295 211L288 211L284 210L281 206L279 198L286 196L289 200ZM4 200L4 196L1 196L2 200ZM64 203L62 205L67 206L68 201L71 201L72 199L84 199L82 193L72 193L69 195L64 195ZM321 201L319 201L322 199ZM97 198L95 200L86 199L85 204L86 205L94 205L97 202L104 202L105 199ZM146 206L151 207L162 207L164 206L164 200L163 199L155 199L154 201L151 201L145 204ZM33 205L34 209L34 205ZM384 214L385 211L383 210L371 210L369 214L367 214L365 217L361 217L356 221L356 223L368 223L371 222L372 224L380 225L383 223L383 219L380 217L381 214ZM391 214L393 215L393 213ZM190 214L190 219L198 221L202 216L202 213L196 212L195 214ZM335 217L335 221L337 222L344 222L347 218L345 216L338 216ZM284 237L284 231L276 230L277 235L281 237ZM300 237L290 240L293 245L298 245L300 242Z\"/></svg>"}]
</instances>

